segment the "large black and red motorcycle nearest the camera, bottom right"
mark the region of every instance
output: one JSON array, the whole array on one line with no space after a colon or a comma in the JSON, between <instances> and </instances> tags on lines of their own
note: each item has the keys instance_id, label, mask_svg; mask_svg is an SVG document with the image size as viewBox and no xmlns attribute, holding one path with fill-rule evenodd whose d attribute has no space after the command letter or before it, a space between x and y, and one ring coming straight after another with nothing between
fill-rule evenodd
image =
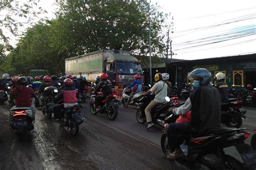
<instances>
[{"instance_id":1,"label":"large black and red motorcycle nearest the camera, bottom right","mask_svg":"<svg viewBox=\"0 0 256 170\"><path fill-rule=\"evenodd\" d=\"M177 117L170 115L165 119L165 123L174 123ZM247 128L223 128L212 129L202 135L184 135L184 143L180 145L184 152L184 157L176 159L179 163L190 169L254 169L256 151L251 150L251 146L245 144L250 132ZM168 144L168 128L161 136L161 150L165 156L171 154L175 148ZM244 164L237 159L227 155L224 148L235 146L240 153Z\"/></svg>"}]
</instances>

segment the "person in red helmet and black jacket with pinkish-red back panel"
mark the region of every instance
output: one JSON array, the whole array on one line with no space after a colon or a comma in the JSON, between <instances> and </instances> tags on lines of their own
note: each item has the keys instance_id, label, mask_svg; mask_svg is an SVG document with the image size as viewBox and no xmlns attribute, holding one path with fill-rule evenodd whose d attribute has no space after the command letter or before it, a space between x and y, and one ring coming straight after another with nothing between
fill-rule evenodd
<instances>
[{"instance_id":1,"label":"person in red helmet and black jacket with pinkish-red back panel","mask_svg":"<svg viewBox=\"0 0 256 170\"><path fill-rule=\"evenodd\" d=\"M55 118L63 118L64 112L61 112L66 107L72 107L78 104L77 100L79 98L78 91L73 86L73 81L71 79L64 80L65 88L56 97L57 101L63 100L62 104L55 105L53 107L53 114Z\"/></svg>"}]
</instances>

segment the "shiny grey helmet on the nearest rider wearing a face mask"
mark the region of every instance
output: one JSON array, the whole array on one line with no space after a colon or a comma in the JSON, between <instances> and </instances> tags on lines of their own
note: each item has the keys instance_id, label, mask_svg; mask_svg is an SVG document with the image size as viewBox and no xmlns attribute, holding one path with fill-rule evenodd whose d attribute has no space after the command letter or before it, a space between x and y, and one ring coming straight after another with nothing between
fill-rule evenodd
<instances>
[{"instance_id":1,"label":"shiny grey helmet on the nearest rider wearing a face mask","mask_svg":"<svg viewBox=\"0 0 256 170\"><path fill-rule=\"evenodd\" d=\"M210 81L212 80L211 72L205 68L194 69L187 77L188 79L198 80L202 86L210 84Z\"/></svg>"}]
</instances>

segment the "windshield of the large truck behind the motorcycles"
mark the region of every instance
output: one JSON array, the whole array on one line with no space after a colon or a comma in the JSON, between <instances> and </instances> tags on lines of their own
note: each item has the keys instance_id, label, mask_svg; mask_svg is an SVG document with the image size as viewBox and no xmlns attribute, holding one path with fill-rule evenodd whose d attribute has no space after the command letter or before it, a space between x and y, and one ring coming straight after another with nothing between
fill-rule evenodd
<instances>
[{"instance_id":1,"label":"windshield of the large truck behind the motorcycles","mask_svg":"<svg viewBox=\"0 0 256 170\"><path fill-rule=\"evenodd\" d=\"M116 63L117 73L126 73L126 74L143 74L142 66L139 63Z\"/></svg>"}]
</instances>

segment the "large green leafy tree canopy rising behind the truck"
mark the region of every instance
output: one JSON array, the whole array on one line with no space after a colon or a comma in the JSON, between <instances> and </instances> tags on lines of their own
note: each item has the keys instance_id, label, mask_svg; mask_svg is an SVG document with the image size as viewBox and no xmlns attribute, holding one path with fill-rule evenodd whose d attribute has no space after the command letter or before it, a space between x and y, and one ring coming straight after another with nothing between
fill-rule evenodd
<instances>
[{"instance_id":1,"label":"large green leafy tree canopy rising behind the truck","mask_svg":"<svg viewBox=\"0 0 256 170\"><path fill-rule=\"evenodd\" d=\"M31 0L32 1L32 0ZM149 53L149 13L152 53L163 53L165 15L141 1L57 1L56 19L28 29L6 60L5 70L28 74L30 69L64 71L64 59L98 49ZM149 8L150 7L150 8ZM150 9L150 10L149 10Z\"/></svg>"}]
</instances>

